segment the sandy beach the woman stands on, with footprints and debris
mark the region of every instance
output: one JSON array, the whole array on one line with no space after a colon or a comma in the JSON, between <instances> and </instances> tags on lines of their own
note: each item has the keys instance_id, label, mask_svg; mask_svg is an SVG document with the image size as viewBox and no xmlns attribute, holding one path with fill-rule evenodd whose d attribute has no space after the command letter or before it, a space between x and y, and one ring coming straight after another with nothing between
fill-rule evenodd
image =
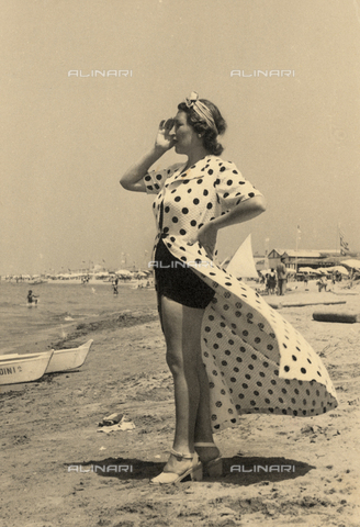
<instances>
[{"instance_id":1,"label":"sandy beach the woman stands on, with footprints and debris","mask_svg":"<svg viewBox=\"0 0 360 527\"><path fill-rule=\"evenodd\" d=\"M223 476L202 482L149 484L175 427L156 310L87 319L66 339L42 343L45 350L93 339L79 370L1 391L1 525L358 526L360 324L315 322L313 313L360 314L360 284L323 293L311 285L266 300L322 356L339 406L318 417L244 416L215 436ZM114 413L135 427L99 431Z\"/></svg>"}]
</instances>

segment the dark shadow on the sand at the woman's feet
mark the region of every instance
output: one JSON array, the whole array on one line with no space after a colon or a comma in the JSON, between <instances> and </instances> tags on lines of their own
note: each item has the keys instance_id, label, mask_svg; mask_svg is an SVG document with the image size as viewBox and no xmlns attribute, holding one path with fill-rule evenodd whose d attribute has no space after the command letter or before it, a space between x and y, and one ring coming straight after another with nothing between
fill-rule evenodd
<instances>
[{"instance_id":1,"label":"dark shadow on the sand at the woman's feet","mask_svg":"<svg viewBox=\"0 0 360 527\"><path fill-rule=\"evenodd\" d=\"M164 466L162 462L143 461L136 458L106 458L66 463L68 472L92 472L102 478L116 478L123 481L149 480L158 475ZM216 478L204 475L204 480L247 486L261 482L294 480L313 469L316 467L295 459L235 456L223 458L222 475Z\"/></svg>"}]
</instances>

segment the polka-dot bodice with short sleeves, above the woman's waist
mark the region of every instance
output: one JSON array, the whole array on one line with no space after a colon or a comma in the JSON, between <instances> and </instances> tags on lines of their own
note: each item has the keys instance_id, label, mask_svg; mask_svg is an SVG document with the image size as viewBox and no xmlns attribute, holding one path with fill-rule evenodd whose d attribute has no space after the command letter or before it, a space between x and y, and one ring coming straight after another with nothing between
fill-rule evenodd
<instances>
[{"instance_id":1,"label":"polka-dot bodice with short sleeves, above the woman's waist","mask_svg":"<svg viewBox=\"0 0 360 527\"><path fill-rule=\"evenodd\" d=\"M199 228L241 201L261 195L230 161L209 156L185 172L181 172L183 166L151 171L144 178L147 192L157 194L153 208L158 228L181 236L183 243L193 242Z\"/></svg>"}]
</instances>

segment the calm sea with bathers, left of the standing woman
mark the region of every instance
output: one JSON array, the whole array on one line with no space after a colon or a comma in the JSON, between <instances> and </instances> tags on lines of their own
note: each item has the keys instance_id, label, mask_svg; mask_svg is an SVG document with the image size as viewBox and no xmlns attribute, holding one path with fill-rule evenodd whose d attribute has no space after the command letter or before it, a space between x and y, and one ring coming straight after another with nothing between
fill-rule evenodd
<instances>
[{"instance_id":1,"label":"calm sea with bathers, left of the standing woman","mask_svg":"<svg viewBox=\"0 0 360 527\"><path fill-rule=\"evenodd\" d=\"M87 284L64 281L32 285L26 282L0 281L0 355L16 352L20 347L63 339L74 324L89 317L106 317L125 310L156 309L154 289L119 285L113 293L110 282ZM37 305L29 307L27 292L37 296ZM45 350L45 348L44 348Z\"/></svg>"}]
</instances>

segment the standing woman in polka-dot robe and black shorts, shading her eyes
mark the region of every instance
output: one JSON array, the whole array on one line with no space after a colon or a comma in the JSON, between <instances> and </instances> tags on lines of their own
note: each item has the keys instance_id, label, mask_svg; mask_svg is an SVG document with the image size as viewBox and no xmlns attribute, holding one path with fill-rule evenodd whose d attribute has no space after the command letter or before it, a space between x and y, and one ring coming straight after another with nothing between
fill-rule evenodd
<instances>
[{"instance_id":1,"label":"standing woman in polka-dot robe and black shorts, shading her eyes","mask_svg":"<svg viewBox=\"0 0 360 527\"><path fill-rule=\"evenodd\" d=\"M223 148L217 137L225 127L218 109L193 92L178 105L175 119L161 121L155 146L121 179L126 190L157 194L153 205L158 225L154 265L167 363L175 383L176 431L169 460L154 483L173 483L187 475L198 480L202 469L220 474L222 462L213 431L234 426L238 414L284 413L284 404L270 401L266 393L279 375L283 355L288 368L291 351L280 350L275 333L281 338L288 332L300 339L289 325L283 328L285 321L279 322L279 315L251 288L213 262L217 231L265 211L260 192L233 162L218 157ZM187 162L148 172L172 147L188 157ZM273 328L274 324L278 327ZM300 361L303 366L310 346L301 345L306 348ZM260 361L268 361L267 366L260 367ZM320 369L318 360L315 362ZM263 369L269 370L267 375ZM280 390L291 383L291 374L293 370L282 372ZM324 368L322 374L333 393ZM307 377L303 374L304 380ZM305 384L296 380L296 386L299 382ZM316 388L312 388L313 397ZM274 392L279 395L278 389ZM336 406L334 393L323 390L318 399L325 407ZM289 396L283 400L290 404ZM303 415L316 415L319 404ZM290 404L285 413L290 412L297 415L299 403Z\"/></svg>"}]
</instances>

